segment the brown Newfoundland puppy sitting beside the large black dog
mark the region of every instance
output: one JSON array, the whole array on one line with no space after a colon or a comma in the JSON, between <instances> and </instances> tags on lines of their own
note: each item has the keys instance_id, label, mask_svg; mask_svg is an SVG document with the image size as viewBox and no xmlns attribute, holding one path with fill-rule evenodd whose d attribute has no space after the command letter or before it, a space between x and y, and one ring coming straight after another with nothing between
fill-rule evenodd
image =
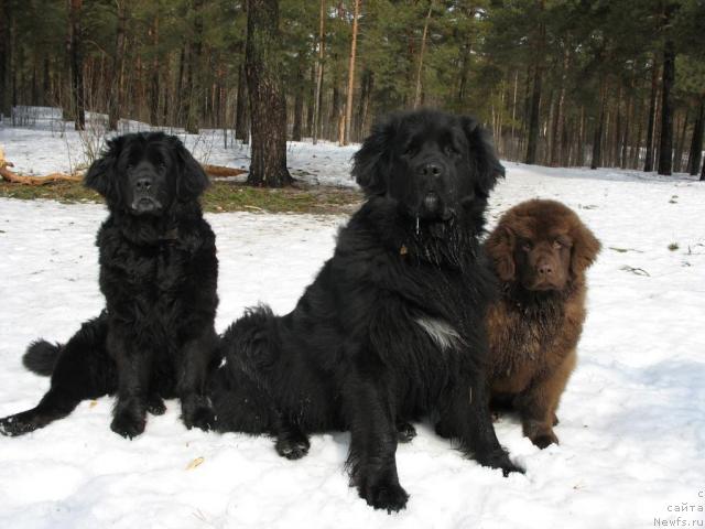
<instances>
[{"instance_id":1,"label":"brown Newfoundland puppy sitting beside the large black dog","mask_svg":"<svg viewBox=\"0 0 705 529\"><path fill-rule=\"evenodd\" d=\"M492 404L518 411L524 435L544 449L558 442L555 410L575 367L585 270L600 244L568 207L533 199L509 209L485 247L501 284L488 312Z\"/></svg>"}]
</instances>

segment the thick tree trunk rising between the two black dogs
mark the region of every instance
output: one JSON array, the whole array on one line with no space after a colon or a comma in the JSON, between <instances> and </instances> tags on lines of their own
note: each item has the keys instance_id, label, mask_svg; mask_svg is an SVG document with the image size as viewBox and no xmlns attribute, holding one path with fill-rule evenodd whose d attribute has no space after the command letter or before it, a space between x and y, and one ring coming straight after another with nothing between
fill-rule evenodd
<instances>
[{"instance_id":1,"label":"thick tree trunk rising between the two black dogs","mask_svg":"<svg viewBox=\"0 0 705 529\"><path fill-rule=\"evenodd\" d=\"M248 0L245 69L252 112L250 185L282 187L286 169L286 100L280 78L278 0Z\"/></svg>"}]
</instances>

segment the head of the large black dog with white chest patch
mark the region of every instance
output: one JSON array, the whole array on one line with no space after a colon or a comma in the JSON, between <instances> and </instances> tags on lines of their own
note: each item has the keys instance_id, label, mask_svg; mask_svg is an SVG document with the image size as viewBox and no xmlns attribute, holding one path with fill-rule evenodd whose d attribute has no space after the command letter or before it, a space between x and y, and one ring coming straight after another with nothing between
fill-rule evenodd
<instances>
[{"instance_id":1,"label":"head of the large black dog with white chest patch","mask_svg":"<svg viewBox=\"0 0 705 529\"><path fill-rule=\"evenodd\" d=\"M352 175L368 196L398 201L411 217L446 222L487 199L505 168L469 117L435 110L393 114L355 154Z\"/></svg>"}]
</instances>

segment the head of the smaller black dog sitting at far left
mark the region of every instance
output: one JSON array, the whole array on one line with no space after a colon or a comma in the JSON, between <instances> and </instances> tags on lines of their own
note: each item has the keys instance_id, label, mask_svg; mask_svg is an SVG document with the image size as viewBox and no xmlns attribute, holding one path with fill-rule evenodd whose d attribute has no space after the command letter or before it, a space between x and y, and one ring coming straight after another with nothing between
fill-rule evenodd
<instances>
[{"instance_id":1,"label":"head of the smaller black dog sitting at far left","mask_svg":"<svg viewBox=\"0 0 705 529\"><path fill-rule=\"evenodd\" d=\"M109 140L84 184L105 196L111 210L158 216L197 198L208 176L178 138L139 132Z\"/></svg>"}]
</instances>

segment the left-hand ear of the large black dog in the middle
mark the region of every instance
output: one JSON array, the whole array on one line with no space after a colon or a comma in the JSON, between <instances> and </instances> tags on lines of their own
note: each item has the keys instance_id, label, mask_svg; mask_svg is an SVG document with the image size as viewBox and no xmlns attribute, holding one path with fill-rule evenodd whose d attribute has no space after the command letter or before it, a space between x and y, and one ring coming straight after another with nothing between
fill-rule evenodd
<instances>
[{"instance_id":1,"label":"left-hand ear of the large black dog in the middle","mask_svg":"<svg viewBox=\"0 0 705 529\"><path fill-rule=\"evenodd\" d=\"M397 118L376 123L352 158L352 176L367 196L387 193Z\"/></svg>"}]
</instances>

